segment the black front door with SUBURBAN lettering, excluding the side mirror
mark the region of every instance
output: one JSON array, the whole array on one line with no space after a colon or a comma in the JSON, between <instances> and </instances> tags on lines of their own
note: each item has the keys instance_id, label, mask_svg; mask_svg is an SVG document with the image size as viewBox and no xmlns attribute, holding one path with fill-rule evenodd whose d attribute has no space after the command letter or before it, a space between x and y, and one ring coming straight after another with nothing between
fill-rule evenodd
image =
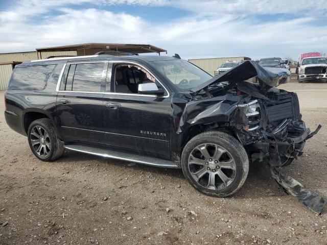
<instances>
[{"instance_id":1,"label":"black front door with SUBURBAN lettering, excluding the side mirror","mask_svg":"<svg viewBox=\"0 0 327 245\"><path fill-rule=\"evenodd\" d=\"M171 97L137 93L140 83L158 80L141 64L113 63L111 92L104 95L107 142L116 148L170 159Z\"/></svg>"}]
</instances>

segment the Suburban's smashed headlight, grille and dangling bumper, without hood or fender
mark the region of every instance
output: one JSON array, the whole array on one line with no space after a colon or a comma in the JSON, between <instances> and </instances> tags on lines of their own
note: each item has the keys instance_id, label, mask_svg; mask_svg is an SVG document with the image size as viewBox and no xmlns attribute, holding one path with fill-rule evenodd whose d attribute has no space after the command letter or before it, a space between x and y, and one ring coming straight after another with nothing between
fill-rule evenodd
<instances>
[{"instance_id":1,"label":"Suburban's smashed headlight, grille and dangling bumper, without hood or fender","mask_svg":"<svg viewBox=\"0 0 327 245\"><path fill-rule=\"evenodd\" d=\"M268 162L272 177L279 185L317 214L322 212L326 200L316 192L305 189L299 182L282 173L282 168L301 156L306 140L313 132L301 120L297 95L271 88L268 99L256 99L238 107L244 111L247 123L237 136L242 141L251 161Z\"/></svg>"}]
</instances>

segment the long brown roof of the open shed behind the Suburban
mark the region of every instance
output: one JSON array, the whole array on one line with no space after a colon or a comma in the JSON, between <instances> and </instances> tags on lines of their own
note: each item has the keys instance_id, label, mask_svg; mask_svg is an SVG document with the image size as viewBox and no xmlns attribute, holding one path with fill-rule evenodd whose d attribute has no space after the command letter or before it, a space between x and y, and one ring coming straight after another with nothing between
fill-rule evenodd
<instances>
[{"instance_id":1,"label":"long brown roof of the open shed behind the Suburban","mask_svg":"<svg viewBox=\"0 0 327 245\"><path fill-rule=\"evenodd\" d=\"M79 49L100 49L106 51L121 51L129 53L160 53L167 52L163 48L156 47L150 44L122 44L122 43L82 43L55 47L36 48L36 51L75 51Z\"/></svg>"}]
</instances>

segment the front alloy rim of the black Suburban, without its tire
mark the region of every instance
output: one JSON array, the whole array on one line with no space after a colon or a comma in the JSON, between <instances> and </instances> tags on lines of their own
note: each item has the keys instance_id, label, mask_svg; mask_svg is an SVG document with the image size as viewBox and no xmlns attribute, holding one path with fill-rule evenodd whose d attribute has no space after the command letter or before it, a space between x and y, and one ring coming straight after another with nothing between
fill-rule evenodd
<instances>
[{"instance_id":1,"label":"front alloy rim of the black Suburban, without its tire","mask_svg":"<svg viewBox=\"0 0 327 245\"><path fill-rule=\"evenodd\" d=\"M222 146L204 143L196 146L189 156L192 178L201 186L221 190L229 186L236 177L236 163Z\"/></svg>"}]
</instances>

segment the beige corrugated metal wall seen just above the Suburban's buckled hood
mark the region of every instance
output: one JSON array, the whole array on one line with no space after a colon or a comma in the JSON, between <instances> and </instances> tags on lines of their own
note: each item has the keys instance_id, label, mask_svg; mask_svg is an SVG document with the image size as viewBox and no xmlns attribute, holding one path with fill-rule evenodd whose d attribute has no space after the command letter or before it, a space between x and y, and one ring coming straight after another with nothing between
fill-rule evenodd
<instances>
[{"instance_id":1,"label":"beige corrugated metal wall seen just above the Suburban's buckled hood","mask_svg":"<svg viewBox=\"0 0 327 245\"><path fill-rule=\"evenodd\" d=\"M225 57L225 58L209 58L209 59L191 59L189 60L191 63L199 66L208 74L214 76L215 70L217 70L218 67L223 62L226 61L233 61L233 60L244 60L244 57Z\"/></svg>"}]
</instances>

